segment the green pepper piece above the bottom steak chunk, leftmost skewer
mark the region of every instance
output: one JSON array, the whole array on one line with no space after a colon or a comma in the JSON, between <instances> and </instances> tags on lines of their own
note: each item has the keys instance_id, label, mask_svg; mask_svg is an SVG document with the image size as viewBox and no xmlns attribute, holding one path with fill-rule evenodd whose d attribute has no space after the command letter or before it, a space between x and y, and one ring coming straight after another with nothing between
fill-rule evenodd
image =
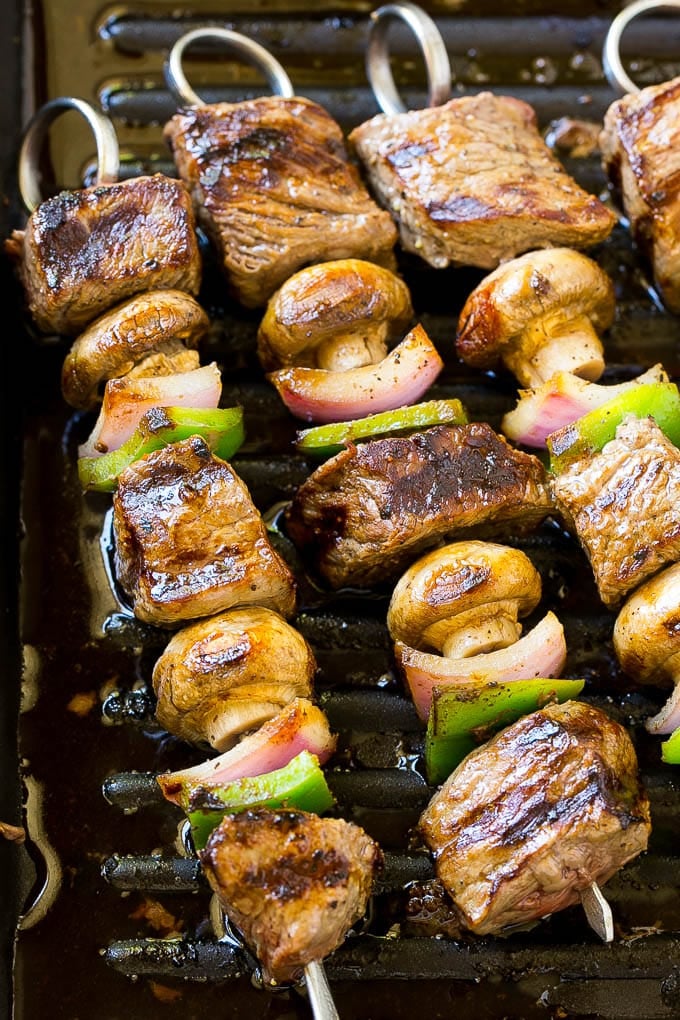
<instances>
[{"instance_id":1,"label":"green pepper piece above the bottom steak chunk, leftmost skewer","mask_svg":"<svg viewBox=\"0 0 680 1020\"><path fill-rule=\"evenodd\" d=\"M319 759L301 751L283 768L234 779L226 785L202 783L185 792L185 811L196 850L203 850L224 815L249 808L298 808L320 815L335 801Z\"/></svg>"}]
</instances>

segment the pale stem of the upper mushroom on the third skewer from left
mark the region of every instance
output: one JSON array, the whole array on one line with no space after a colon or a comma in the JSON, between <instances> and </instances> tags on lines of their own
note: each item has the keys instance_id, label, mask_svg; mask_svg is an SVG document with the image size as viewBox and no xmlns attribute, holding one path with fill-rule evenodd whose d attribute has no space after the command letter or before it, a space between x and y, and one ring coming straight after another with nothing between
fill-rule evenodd
<instances>
[{"instance_id":1,"label":"pale stem of the upper mushroom on the third skewer from left","mask_svg":"<svg viewBox=\"0 0 680 1020\"><path fill-rule=\"evenodd\" d=\"M520 385L528 388L539 387L561 371L593 382L605 370L603 344L587 315L533 322L516 348L506 349L504 360Z\"/></svg>"}]
</instances>

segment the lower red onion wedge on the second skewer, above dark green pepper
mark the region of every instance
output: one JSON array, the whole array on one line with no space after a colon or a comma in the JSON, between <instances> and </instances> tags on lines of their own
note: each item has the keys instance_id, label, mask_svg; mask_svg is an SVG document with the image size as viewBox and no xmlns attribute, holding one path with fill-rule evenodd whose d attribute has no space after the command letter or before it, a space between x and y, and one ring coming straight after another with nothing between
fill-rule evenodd
<instances>
[{"instance_id":1,"label":"lower red onion wedge on the second skewer, above dark green pepper","mask_svg":"<svg viewBox=\"0 0 680 1020\"><path fill-rule=\"evenodd\" d=\"M463 659L449 659L396 642L395 654L407 683L416 711L427 721L432 702L432 688L456 683L508 683L528 680L534 676L556 677L567 659L564 628L557 616L548 612L527 634L507 648L485 652Z\"/></svg>"}]
</instances>

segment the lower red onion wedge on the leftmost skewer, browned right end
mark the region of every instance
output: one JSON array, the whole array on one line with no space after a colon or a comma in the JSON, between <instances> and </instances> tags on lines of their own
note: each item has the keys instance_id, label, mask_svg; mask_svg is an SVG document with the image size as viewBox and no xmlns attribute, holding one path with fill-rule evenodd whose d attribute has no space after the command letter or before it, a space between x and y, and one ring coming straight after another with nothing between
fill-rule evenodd
<instances>
[{"instance_id":1,"label":"lower red onion wedge on the leftmost skewer, browned right end","mask_svg":"<svg viewBox=\"0 0 680 1020\"><path fill-rule=\"evenodd\" d=\"M316 755L320 764L335 750L336 736L320 708L305 698L295 698L284 709L230 751L179 772L158 776L166 800L181 807L191 785L225 783L246 776L264 775L283 768L301 751Z\"/></svg>"}]
</instances>

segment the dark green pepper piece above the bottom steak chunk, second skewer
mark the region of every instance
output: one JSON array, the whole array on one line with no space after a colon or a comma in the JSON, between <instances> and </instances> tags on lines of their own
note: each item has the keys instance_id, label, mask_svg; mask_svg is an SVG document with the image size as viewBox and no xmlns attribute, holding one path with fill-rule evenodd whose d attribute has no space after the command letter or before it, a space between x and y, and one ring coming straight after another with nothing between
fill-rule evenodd
<instances>
[{"instance_id":1,"label":"dark green pepper piece above the bottom steak chunk, second skewer","mask_svg":"<svg viewBox=\"0 0 680 1020\"><path fill-rule=\"evenodd\" d=\"M427 781L432 785L442 782L466 755L496 730L548 702L576 698L584 683L537 677L434 687L425 736Z\"/></svg>"}]
</instances>

